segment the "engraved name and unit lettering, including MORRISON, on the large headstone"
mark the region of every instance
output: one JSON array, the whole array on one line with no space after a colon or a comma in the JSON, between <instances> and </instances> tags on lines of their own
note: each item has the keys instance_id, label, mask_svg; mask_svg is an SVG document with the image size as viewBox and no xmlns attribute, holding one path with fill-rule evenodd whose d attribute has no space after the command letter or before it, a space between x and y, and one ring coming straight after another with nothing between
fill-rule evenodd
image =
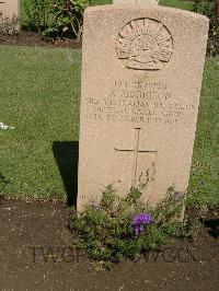
<instances>
[{"instance_id":1,"label":"engraved name and unit lettering, including MORRISON, on the large headstone","mask_svg":"<svg viewBox=\"0 0 219 291\"><path fill-rule=\"evenodd\" d=\"M123 82L114 85L105 97L85 100L85 118L122 123L176 124L186 123L193 104L176 103L162 82Z\"/></svg>"}]
</instances>

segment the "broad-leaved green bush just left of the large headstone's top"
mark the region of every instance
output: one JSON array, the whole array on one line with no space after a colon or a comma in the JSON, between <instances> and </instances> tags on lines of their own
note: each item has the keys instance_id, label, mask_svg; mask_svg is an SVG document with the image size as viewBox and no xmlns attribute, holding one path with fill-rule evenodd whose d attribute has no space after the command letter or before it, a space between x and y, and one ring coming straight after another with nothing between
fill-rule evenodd
<instances>
[{"instance_id":1,"label":"broad-leaved green bush just left of the large headstone's top","mask_svg":"<svg viewBox=\"0 0 219 291\"><path fill-rule=\"evenodd\" d=\"M44 35L51 38L71 37L80 39L83 26L83 11L89 5L89 0L51 0L51 24L45 30Z\"/></svg>"}]
</instances>

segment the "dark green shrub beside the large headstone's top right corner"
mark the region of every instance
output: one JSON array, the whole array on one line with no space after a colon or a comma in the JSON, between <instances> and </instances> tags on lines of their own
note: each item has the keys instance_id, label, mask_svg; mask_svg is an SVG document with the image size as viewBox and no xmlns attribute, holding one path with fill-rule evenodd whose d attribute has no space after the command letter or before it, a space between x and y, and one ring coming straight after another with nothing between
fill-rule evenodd
<instances>
[{"instance_id":1,"label":"dark green shrub beside the large headstone's top right corner","mask_svg":"<svg viewBox=\"0 0 219 291\"><path fill-rule=\"evenodd\" d=\"M209 20L209 33L207 55L219 55L219 0L211 0L208 2L200 2L200 0L194 0L193 11L206 15Z\"/></svg>"}]
</instances>

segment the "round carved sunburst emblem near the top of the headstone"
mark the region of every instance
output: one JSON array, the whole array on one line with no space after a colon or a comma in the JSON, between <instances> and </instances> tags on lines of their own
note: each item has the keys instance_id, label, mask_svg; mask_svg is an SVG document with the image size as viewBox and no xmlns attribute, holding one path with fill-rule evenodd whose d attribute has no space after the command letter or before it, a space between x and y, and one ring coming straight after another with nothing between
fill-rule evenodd
<instances>
[{"instance_id":1,"label":"round carved sunburst emblem near the top of the headstone","mask_svg":"<svg viewBox=\"0 0 219 291\"><path fill-rule=\"evenodd\" d=\"M161 22L134 20L118 33L116 53L127 68L160 70L171 59L173 39Z\"/></svg>"}]
</instances>

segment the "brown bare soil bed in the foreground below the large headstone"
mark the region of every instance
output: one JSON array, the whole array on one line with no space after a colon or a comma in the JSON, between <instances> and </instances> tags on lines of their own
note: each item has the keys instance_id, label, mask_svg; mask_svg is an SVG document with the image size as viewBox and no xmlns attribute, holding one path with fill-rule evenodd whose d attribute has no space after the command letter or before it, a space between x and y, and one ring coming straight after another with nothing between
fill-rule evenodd
<instances>
[{"instance_id":1,"label":"brown bare soil bed in the foreground below the large headstone","mask_svg":"<svg viewBox=\"0 0 219 291\"><path fill-rule=\"evenodd\" d=\"M219 221L194 242L178 241L103 270L76 252L62 203L2 200L0 290L219 290Z\"/></svg>"}]
</instances>

